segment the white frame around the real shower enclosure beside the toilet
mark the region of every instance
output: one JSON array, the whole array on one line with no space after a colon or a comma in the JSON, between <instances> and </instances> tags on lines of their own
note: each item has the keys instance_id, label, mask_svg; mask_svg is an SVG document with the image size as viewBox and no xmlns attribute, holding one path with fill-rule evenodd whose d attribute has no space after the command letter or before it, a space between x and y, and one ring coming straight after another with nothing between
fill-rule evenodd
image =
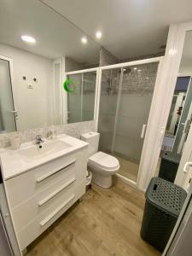
<instances>
[{"instance_id":1,"label":"white frame around the real shower enclosure beside the toilet","mask_svg":"<svg viewBox=\"0 0 192 256\"><path fill-rule=\"evenodd\" d=\"M160 79L160 76L162 74L163 59L164 57L160 56L160 57L154 57L154 58L149 58L144 60L129 61L129 62L123 62L123 63L99 67L99 76L98 76L98 85L97 85L98 96L97 96L97 103L96 103L96 131L98 130L99 106L100 106L100 96L101 96L101 87L102 87L102 71L108 70L108 69L114 69L114 68L137 66L137 65L148 64L153 62L159 63L159 66L157 68L157 73L156 73L156 80L154 84L154 93L152 96L151 107L148 115L148 123L144 131L145 135L143 137L144 138L143 151L142 151L142 156L139 163L139 170L137 173L137 182L134 182L131 179L120 175L119 173L116 174L119 178L123 179L126 183L130 183L132 186L142 190L146 189L146 184L149 182L150 178L153 177L153 174L155 172L155 168L156 168L157 161L160 154L161 143L162 143L164 132L165 132L164 126L157 125L158 126L158 131L157 131L157 126L153 125L154 120L156 123L159 123L156 110L157 110L157 106L160 108L162 105L161 101L163 100L163 95L164 95L163 92L165 90L165 84L164 86L162 86L162 80ZM122 75L121 75L121 80L122 80ZM119 81L119 86L122 86L122 81ZM120 97L119 94L120 94L120 90L118 92L118 98ZM117 106L118 105L119 104L117 103ZM116 113L117 111L118 110L116 109ZM115 119L116 119L116 116L115 116ZM156 135L155 142L153 140L150 140L150 135L152 133ZM114 143L114 138L113 138L113 143ZM155 144L154 150L149 150L149 148L153 148L153 144Z\"/></svg>"}]
</instances>

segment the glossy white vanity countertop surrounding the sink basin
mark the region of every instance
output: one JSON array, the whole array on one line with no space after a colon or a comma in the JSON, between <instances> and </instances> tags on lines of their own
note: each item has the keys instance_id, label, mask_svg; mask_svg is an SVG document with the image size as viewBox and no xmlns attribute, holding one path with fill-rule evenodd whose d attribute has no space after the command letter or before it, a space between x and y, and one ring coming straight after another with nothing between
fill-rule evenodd
<instances>
[{"instance_id":1,"label":"glossy white vanity countertop surrounding the sink basin","mask_svg":"<svg viewBox=\"0 0 192 256\"><path fill-rule=\"evenodd\" d=\"M72 147L65 148L61 150L60 152L46 155L44 158L37 159L37 160L31 160L26 161L23 160L20 157L18 150L12 150L9 148L3 148L0 150L0 164L2 169L2 175L3 179L7 180L11 177L15 177L23 172L29 171L32 168L35 168L37 166L41 166L46 162L49 162L51 160L54 160L58 157L61 157L62 155L70 154L76 150L79 150L80 148L87 147L89 144L85 143L84 141L81 141L77 138L70 137L67 135L61 135L56 137L55 140L60 140L61 142L68 143ZM46 142L51 142L53 140L46 140ZM20 145L20 148L29 148L30 146L34 146L34 143L23 143ZM42 144L44 145L44 143Z\"/></svg>"}]
</instances>

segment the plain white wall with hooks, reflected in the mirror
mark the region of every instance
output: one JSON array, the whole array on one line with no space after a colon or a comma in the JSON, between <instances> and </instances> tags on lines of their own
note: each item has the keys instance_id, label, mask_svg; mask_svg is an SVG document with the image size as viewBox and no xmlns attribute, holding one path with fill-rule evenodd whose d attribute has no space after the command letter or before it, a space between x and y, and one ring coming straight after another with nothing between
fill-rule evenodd
<instances>
[{"instance_id":1,"label":"plain white wall with hooks, reflected in the mirror","mask_svg":"<svg viewBox=\"0 0 192 256\"><path fill-rule=\"evenodd\" d=\"M0 55L13 59L18 130L53 124L52 61L4 44L0 44ZM34 77L37 83L32 80ZM28 84L33 89L27 89Z\"/></svg>"}]
</instances>

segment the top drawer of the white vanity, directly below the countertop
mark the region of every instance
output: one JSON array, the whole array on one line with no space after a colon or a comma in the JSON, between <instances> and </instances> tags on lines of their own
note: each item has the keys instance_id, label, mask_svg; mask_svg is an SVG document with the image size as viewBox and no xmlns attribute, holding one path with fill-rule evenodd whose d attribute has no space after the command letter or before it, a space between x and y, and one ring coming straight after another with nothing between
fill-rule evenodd
<instances>
[{"instance_id":1,"label":"top drawer of the white vanity, directly below the countertop","mask_svg":"<svg viewBox=\"0 0 192 256\"><path fill-rule=\"evenodd\" d=\"M77 183L80 183L86 176L86 160L87 148L84 148L5 181L10 207L27 201L62 178L75 176Z\"/></svg>"}]
</instances>

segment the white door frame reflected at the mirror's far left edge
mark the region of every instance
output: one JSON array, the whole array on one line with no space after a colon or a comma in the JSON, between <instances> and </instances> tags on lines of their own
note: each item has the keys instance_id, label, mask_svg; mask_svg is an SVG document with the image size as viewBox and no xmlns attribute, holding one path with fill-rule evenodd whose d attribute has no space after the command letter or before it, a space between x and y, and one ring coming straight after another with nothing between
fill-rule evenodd
<instances>
[{"instance_id":1,"label":"white door frame reflected at the mirror's far left edge","mask_svg":"<svg viewBox=\"0 0 192 256\"><path fill-rule=\"evenodd\" d=\"M10 73L10 83L11 83L11 90L12 90L12 97L13 97L13 104L14 104L14 109L17 111L18 115L18 104L17 104L17 90L15 86L15 76L14 76L14 65L13 65L13 59L0 55L0 59L3 61L8 61L9 62L9 73ZM13 113L15 116L15 113ZM20 122L19 119L15 117L15 128L16 131L20 131Z\"/></svg>"}]
</instances>

